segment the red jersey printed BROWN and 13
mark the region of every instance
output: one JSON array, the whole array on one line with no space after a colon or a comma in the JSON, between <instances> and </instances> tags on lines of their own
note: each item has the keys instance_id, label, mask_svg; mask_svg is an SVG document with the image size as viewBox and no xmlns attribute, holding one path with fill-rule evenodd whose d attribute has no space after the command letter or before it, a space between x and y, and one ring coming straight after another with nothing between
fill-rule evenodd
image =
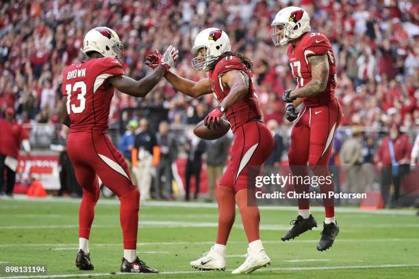
<instances>
[{"instance_id":1,"label":"red jersey printed BROWN and 13","mask_svg":"<svg viewBox=\"0 0 419 279\"><path fill-rule=\"evenodd\" d=\"M124 75L124 70L118 60L109 57L77 62L64 69L62 94L67 96L70 133L107 131L114 87L106 81L118 75Z\"/></svg>"}]
</instances>

